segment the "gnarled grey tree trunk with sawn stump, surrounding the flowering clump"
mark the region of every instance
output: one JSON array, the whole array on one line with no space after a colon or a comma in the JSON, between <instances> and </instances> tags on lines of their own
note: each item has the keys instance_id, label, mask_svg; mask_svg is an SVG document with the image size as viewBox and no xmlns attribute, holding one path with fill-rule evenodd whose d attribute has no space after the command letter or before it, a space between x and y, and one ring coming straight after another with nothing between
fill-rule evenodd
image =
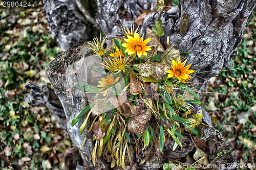
<instances>
[{"instance_id":1,"label":"gnarled grey tree trunk with sawn stump, surrounding the flowering clump","mask_svg":"<svg viewBox=\"0 0 256 170\"><path fill-rule=\"evenodd\" d=\"M141 9L154 9L157 1L152 3L144 2L146 1L97 1L98 14L96 21L100 23L104 32L109 34L109 37L121 36L121 31L115 26L116 19L120 19L124 25L130 26L130 23L133 22L131 20L136 19L141 14ZM158 18L162 19L165 34L161 38L161 42L165 43L166 37L169 36L169 44L173 44L178 40L179 43L176 48L181 53L191 53L185 54L188 62L193 63L193 69L199 73L202 72L193 81L194 83L203 83L204 85L200 85L198 91L204 91L209 78L217 76L219 70L223 66L230 65L231 59L237 55L237 47L243 38L243 31L252 10L255 8L255 3L256 1L242 0L183 0L180 1L180 6L174 7L167 12L153 12L146 15L140 33L145 33L146 27L152 27ZM122 13L124 9L126 10L125 14ZM112 17L113 15L116 19ZM182 17L184 18L188 15L189 25L186 26L184 24L186 22ZM184 29L186 27L188 29ZM54 58L46 67L46 74L66 115L67 131L78 148L81 148L85 136L84 133L81 135L78 133L84 117L74 127L71 126L71 122L74 116L87 106L87 101L83 96L83 91L76 88L74 83L86 83L88 77L85 75L92 74L89 70L89 65L93 61L87 59L92 55L92 51L88 50L87 46L87 43L82 43L69 48ZM205 124L211 125L207 112L204 112L203 120ZM90 125L92 121L93 117L90 117L87 125ZM85 131L89 128L86 127ZM209 155L210 160L214 160L212 164L216 164L217 169L233 169L234 166L227 167L236 162L236 154L229 152L233 148L231 143L225 141L214 128L200 126L199 129L202 134L201 140L204 140L207 145L205 152ZM184 154L183 156L186 156L194 148L193 142L189 141L187 152L182 153ZM92 150L93 142L87 140L81 148L84 162L86 162L84 166L87 169L108 169L109 163L99 157L96 158L96 166L93 166ZM228 153L215 159L220 152ZM168 151L164 155L164 159L172 158L175 154L173 151ZM177 158L178 155L175 157ZM136 162L136 158L133 161ZM135 166L134 168L150 169L147 166L148 163L161 164L162 161L163 158L156 157L152 152L144 164L138 165L135 163L133 166Z\"/></svg>"}]
</instances>

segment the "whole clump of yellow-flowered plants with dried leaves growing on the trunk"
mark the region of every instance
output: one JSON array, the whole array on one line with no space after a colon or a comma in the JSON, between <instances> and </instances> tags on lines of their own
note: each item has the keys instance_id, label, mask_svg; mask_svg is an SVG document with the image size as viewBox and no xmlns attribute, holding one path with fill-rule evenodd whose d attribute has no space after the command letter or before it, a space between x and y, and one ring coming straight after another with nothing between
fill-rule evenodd
<instances>
[{"instance_id":1,"label":"whole clump of yellow-flowered plants with dried leaves growing on the trunk","mask_svg":"<svg viewBox=\"0 0 256 170\"><path fill-rule=\"evenodd\" d=\"M121 26L124 39L109 40L112 45L108 47L104 46L107 36L89 43L102 59L100 66L91 66L101 78L96 84L75 83L90 94L90 99L74 117L72 126L86 117L79 134L86 133L83 143L94 141L94 164L96 154L110 161L111 167L124 169L125 159L132 165L134 154L140 155L139 164L143 164L152 151L163 154L169 139L174 140L175 151L183 148L182 134L200 136L196 127L202 122L203 112L193 106L201 102L190 82L195 70L186 65L187 58L175 48L177 44L168 44L168 37L166 49L161 45L161 23L159 19L152 30L147 28L146 38L134 26L126 30ZM90 116L93 121L84 132Z\"/></svg>"}]
</instances>

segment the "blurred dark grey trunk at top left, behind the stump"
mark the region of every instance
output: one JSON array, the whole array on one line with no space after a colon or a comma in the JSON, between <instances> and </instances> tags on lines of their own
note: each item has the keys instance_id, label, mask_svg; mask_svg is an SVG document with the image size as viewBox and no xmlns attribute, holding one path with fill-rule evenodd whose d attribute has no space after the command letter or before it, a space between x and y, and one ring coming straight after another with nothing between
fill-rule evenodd
<instances>
[{"instance_id":1,"label":"blurred dark grey trunk at top left, behind the stump","mask_svg":"<svg viewBox=\"0 0 256 170\"><path fill-rule=\"evenodd\" d=\"M62 50L67 50L79 41L87 41L87 23L72 0L43 0L47 25Z\"/></svg>"}]
</instances>

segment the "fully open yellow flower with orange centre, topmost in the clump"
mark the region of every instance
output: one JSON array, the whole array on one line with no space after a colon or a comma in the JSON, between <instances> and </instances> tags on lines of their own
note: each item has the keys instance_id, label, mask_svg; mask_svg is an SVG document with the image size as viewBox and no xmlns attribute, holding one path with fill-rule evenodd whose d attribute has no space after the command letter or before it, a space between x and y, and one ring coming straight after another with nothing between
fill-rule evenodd
<instances>
[{"instance_id":1,"label":"fully open yellow flower with orange centre, topmost in the clump","mask_svg":"<svg viewBox=\"0 0 256 170\"><path fill-rule=\"evenodd\" d=\"M128 39L124 38L124 41L127 43L123 43L122 46L124 46L125 52L128 53L128 55L132 55L135 52L137 52L137 55L141 57L143 54L146 56L146 51L151 51L151 46L145 46L148 42L151 41L151 38L147 38L143 41L143 36L140 38L138 33L134 34L134 37L127 35Z\"/></svg>"}]
</instances>

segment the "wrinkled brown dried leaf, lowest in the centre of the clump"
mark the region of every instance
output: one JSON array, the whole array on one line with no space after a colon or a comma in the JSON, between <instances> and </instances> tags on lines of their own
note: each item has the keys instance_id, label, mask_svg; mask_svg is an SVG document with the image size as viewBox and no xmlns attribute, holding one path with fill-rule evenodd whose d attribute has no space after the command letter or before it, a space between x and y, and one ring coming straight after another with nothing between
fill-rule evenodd
<instances>
[{"instance_id":1,"label":"wrinkled brown dried leaf, lowest in the centre of the clump","mask_svg":"<svg viewBox=\"0 0 256 170\"><path fill-rule=\"evenodd\" d=\"M142 110L140 114L134 117L129 118L129 123L127 126L127 130L139 135L142 135L146 130L146 126L148 126L147 121L151 118L151 110L147 108L146 110Z\"/></svg>"}]
</instances>

